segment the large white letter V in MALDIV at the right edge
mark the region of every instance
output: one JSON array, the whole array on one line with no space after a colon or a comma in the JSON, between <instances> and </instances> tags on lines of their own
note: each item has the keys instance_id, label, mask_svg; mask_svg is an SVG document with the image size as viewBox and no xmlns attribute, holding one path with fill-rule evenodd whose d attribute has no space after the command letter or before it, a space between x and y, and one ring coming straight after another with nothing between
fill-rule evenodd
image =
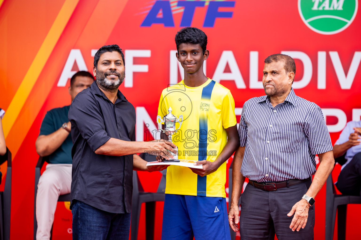
<instances>
[{"instance_id":1,"label":"large white letter V in MALDIV at the right edge","mask_svg":"<svg viewBox=\"0 0 361 240\"><path fill-rule=\"evenodd\" d=\"M341 89L351 89L351 85L352 85L353 80L355 79L358 65L360 65L361 52L355 52L355 54L353 55L350 68L348 69L347 76L345 75L345 72L343 70L342 63L341 63L340 57L338 55L338 52L330 51L330 57L331 57L332 64L334 65L336 76L339 80Z\"/></svg>"}]
</instances>

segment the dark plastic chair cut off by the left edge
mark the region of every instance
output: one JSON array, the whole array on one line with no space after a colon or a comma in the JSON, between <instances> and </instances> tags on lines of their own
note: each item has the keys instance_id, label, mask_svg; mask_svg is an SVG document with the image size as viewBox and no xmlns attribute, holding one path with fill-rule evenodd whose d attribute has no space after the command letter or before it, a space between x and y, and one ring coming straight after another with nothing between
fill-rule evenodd
<instances>
[{"instance_id":1,"label":"dark plastic chair cut off by the left edge","mask_svg":"<svg viewBox=\"0 0 361 240\"><path fill-rule=\"evenodd\" d=\"M4 191L0 192L0 233L1 240L10 240L11 213L11 152L6 148L4 156L0 156L0 164L8 161Z\"/></svg>"}]
</instances>

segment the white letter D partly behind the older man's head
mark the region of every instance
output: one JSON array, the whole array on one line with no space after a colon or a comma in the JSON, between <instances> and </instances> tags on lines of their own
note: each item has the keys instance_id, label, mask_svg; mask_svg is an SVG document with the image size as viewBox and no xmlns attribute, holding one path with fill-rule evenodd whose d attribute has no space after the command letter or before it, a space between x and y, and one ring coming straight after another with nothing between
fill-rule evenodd
<instances>
[{"instance_id":1,"label":"white letter D partly behind the older man's head","mask_svg":"<svg viewBox=\"0 0 361 240\"><path fill-rule=\"evenodd\" d=\"M300 51L282 51L281 53L286 54L291 58L300 59L303 63L303 77L300 81L293 82L292 87L294 89L301 89L307 86L312 78L312 62L310 57Z\"/></svg>"}]
</instances>

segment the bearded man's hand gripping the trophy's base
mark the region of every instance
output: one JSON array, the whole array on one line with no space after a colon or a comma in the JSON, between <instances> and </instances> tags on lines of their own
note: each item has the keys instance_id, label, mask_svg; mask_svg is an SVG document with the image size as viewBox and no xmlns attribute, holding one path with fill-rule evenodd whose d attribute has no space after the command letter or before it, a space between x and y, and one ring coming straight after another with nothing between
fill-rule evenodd
<instances>
[{"instance_id":1,"label":"bearded man's hand gripping the trophy's base","mask_svg":"<svg viewBox=\"0 0 361 240\"><path fill-rule=\"evenodd\" d=\"M157 155L158 162L161 162L161 158L165 158L167 160L173 159L174 157L171 155L170 152L177 154L177 146L174 145L171 141L166 141L164 139L154 140L147 142L148 148L147 151L151 152L152 155ZM152 153L153 152L153 153Z\"/></svg>"}]
</instances>

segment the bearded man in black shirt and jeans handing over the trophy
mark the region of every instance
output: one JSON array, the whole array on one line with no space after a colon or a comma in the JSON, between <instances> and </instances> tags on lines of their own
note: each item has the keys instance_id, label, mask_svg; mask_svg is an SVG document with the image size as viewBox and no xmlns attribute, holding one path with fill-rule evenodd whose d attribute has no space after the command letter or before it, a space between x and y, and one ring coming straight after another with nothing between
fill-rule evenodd
<instances>
[{"instance_id":1,"label":"bearded man in black shirt and jeans handing over the trophy","mask_svg":"<svg viewBox=\"0 0 361 240\"><path fill-rule=\"evenodd\" d=\"M118 45L101 47L94 56L96 81L80 92L69 110L73 148L71 212L73 239L129 239L133 170L146 166L137 153L175 153L170 141L135 141L135 109L118 90L125 77Z\"/></svg>"}]
</instances>

